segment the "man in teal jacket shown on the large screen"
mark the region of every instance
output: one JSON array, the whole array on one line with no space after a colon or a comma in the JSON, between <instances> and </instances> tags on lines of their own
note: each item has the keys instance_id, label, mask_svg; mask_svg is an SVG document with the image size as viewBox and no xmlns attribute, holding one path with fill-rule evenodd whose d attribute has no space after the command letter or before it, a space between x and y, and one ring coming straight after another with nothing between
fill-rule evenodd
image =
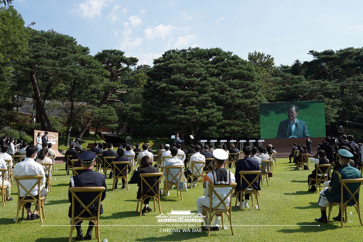
<instances>
[{"instance_id":1,"label":"man in teal jacket shown on the large screen","mask_svg":"<svg viewBox=\"0 0 363 242\"><path fill-rule=\"evenodd\" d=\"M276 137L297 138L309 136L305 121L296 118L299 108L291 104L287 107L287 119L280 122Z\"/></svg>"}]
</instances>

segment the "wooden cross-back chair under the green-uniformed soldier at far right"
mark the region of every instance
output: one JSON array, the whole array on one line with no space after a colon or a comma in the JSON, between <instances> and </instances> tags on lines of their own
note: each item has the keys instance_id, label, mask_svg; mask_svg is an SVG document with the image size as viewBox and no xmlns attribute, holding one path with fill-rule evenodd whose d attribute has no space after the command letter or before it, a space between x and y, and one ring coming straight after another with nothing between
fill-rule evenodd
<instances>
[{"instance_id":1,"label":"wooden cross-back chair under the green-uniformed soldier at far right","mask_svg":"<svg viewBox=\"0 0 363 242\"><path fill-rule=\"evenodd\" d=\"M339 176L339 180L340 180L340 176ZM333 203L329 204L329 214L328 214L327 223L329 223L329 220L330 220L330 211L331 211L331 209L333 208L334 205L338 205L339 209L340 209L340 211L342 213L342 215L340 216L340 218L341 218L340 227L342 228L343 227L343 212L345 212L345 218L346 218L346 221L347 221L347 219L348 219L348 217L347 217L347 207L349 206L348 202L353 200L355 202L355 204L352 205L352 206L355 208L356 212L358 213L360 225L363 226L362 218L360 217L360 208L359 208L359 190L360 190L360 186L362 185L362 182L363 182L363 178L340 180L340 202L333 202ZM356 190L352 191L346 185L346 184L351 184L351 183L358 183L358 187L357 187ZM344 202L344 199L343 199L344 192L342 192L342 191L344 191L346 193L349 193L350 196L351 196L345 202ZM358 198L354 197L355 194L358 194Z\"/></svg>"}]
</instances>

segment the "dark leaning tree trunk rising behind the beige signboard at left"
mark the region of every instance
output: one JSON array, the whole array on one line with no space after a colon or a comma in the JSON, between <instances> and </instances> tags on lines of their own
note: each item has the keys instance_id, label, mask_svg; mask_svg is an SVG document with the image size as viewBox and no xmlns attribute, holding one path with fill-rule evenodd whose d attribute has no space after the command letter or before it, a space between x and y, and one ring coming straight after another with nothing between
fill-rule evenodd
<instances>
[{"instance_id":1,"label":"dark leaning tree trunk rising behind the beige signboard at left","mask_svg":"<svg viewBox=\"0 0 363 242\"><path fill-rule=\"evenodd\" d=\"M48 115L46 114L46 112L44 110L44 105L40 98L40 92L38 89L38 83L37 83L37 78L36 78L37 69L36 69L35 65L33 65L31 67L32 67L32 71L30 72L30 79L31 79L32 85L33 85L34 97L35 97L36 106L37 106L37 110L38 110L38 117L39 117L40 125L43 130L52 132L53 131L52 124L50 124Z\"/></svg>"}]
</instances>

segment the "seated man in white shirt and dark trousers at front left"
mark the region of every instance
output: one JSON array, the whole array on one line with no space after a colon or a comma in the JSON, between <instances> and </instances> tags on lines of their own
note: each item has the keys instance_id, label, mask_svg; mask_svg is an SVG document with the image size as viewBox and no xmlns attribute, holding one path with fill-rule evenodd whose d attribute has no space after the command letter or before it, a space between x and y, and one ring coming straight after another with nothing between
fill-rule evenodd
<instances>
[{"instance_id":1,"label":"seated man in white shirt and dark trousers at front left","mask_svg":"<svg viewBox=\"0 0 363 242\"><path fill-rule=\"evenodd\" d=\"M29 145L26 147L26 159L22 162L19 162L14 167L14 176L35 176L35 175L42 175L43 178L41 180L41 197L46 197L46 190L44 189L45 185L45 173L44 169L41 164L35 162L34 159L37 157L37 147L35 145ZM34 185L34 180L21 180L21 184L26 188L30 189ZM20 199L23 198L23 196L26 195L26 191L20 186ZM30 191L30 193L34 197L38 197L38 185L36 185L33 190ZM30 197L29 197L30 198ZM44 198L45 202L45 198ZM28 216L26 217L26 220L36 220L39 218L38 216L38 207L35 208L33 214L30 210L31 202L28 202L25 204L26 213Z\"/></svg>"}]
</instances>

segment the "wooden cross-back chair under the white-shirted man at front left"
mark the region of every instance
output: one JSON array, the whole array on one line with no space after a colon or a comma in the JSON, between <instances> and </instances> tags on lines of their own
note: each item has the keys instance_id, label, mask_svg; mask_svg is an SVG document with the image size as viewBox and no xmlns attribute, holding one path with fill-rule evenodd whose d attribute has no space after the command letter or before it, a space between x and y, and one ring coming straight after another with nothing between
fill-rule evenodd
<instances>
[{"instance_id":1,"label":"wooden cross-back chair under the white-shirted man at front left","mask_svg":"<svg viewBox=\"0 0 363 242\"><path fill-rule=\"evenodd\" d=\"M18 189L18 205L17 205L17 212L16 212L16 220L15 223L18 222L19 219L19 212L20 209L23 207L22 213L21 213L21 218L24 218L24 208L25 208L25 204L27 202L33 202L37 208L38 208L38 215L40 218L40 222L43 223L43 218L45 218L45 212L44 212L44 198L40 197L40 191L41 191L41 181L42 178L44 176L42 175L36 175L36 176L15 176L15 182L17 184L17 189ZM21 180L37 180L36 182L34 182L34 185L28 190L26 189L22 184L21 184ZM20 187L24 189L24 191L26 192L26 194L24 195L23 198L20 199ZM38 198L36 198L34 195L32 195L30 192L36 187L38 186ZM30 198L29 198L30 197Z\"/></svg>"}]
</instances>

